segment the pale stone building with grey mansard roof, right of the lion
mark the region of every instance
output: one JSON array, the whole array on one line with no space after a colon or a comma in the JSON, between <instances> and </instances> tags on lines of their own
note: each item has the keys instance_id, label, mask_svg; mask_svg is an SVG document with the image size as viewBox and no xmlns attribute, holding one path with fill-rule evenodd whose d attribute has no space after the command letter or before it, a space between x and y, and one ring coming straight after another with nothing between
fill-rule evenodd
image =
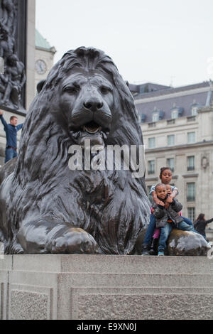
<instances>
[{"instance_id":1,"label":"pale stone building with grey mansard roof, right of the lion","mask_svg":"<svg viewBox=\"0 0 213 334\"><path fill-rule=\"evenodd\" d=\"M160 88L134 98L145 144L148 190L159 182L160 168L168 166L179 189L182 215L195 220L202 212L212 218L212 82Z\"/></svg>"}]
</instances>

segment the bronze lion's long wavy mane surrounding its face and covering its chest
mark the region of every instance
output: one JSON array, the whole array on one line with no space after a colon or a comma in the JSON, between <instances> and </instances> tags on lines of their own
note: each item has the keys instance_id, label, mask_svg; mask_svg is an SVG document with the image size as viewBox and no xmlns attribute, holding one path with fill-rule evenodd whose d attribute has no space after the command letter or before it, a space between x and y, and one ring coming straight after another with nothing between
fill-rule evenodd
<instances>
[{"instance_id":1,"label":"bronze lion's long wavy mane surrounding its face and covering its chest","mask_svg":"<svg viewBox=\"0 0 213 334\"><path fill-rule=\"evenodd\" d=\"M131 178L131 171L68 169L68 148L74 142L66 122L64 126L58 124L53 113L64 117L59 109L58 87L62 77L75 68L99 70L113 84L114 116L105 144L143 144L133 97L111 58L94 48L81 47L65 53L33 100L23 125L6 202L7 252L13 252L21 223L35 215L53 213L57 219L83 228L93 235L105 254L132 254L138 233L148 223L144 178ZM58 192L62 184L64 194ZM75 192L75 205L67 198L69 191Z\"/></svg>"}]
</instances>

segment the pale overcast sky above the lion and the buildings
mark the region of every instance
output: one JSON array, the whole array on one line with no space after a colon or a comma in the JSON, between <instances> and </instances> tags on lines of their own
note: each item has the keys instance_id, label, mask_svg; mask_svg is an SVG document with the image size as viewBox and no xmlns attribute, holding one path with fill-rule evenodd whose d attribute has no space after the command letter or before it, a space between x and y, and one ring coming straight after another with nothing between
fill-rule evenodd
<instances>
[{"instance_id":1,"label":"pale overcast sky above the lion and the buildings","mask_svg":"<svg viewBox=\"0 0 213 334\"><path fill-rule=\"evenodd\" d=\"M213 0L36 0L35 21L55 61L94 46L131 83L213 80Z\"/></svg>"}]
</instances>

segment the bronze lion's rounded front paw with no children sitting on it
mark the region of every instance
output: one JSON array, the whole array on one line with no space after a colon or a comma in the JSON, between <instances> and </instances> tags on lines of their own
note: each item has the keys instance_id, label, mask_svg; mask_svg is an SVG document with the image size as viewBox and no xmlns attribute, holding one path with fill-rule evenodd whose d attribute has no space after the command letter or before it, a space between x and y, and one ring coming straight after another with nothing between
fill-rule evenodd
<instances>
[{"instance_id":1,"label":"bronze lion's rounded front paw with no children sitting on it","mask_svg":"<svg viewBox=\"0 0 213 334\"><path fill-rule=\"evenodd\" d=\"M60 254L94 254L97 253L97 242L92 235L80 228L70 228L62 235L51 239L46 251Z\"/></svg>"}]
</instances>

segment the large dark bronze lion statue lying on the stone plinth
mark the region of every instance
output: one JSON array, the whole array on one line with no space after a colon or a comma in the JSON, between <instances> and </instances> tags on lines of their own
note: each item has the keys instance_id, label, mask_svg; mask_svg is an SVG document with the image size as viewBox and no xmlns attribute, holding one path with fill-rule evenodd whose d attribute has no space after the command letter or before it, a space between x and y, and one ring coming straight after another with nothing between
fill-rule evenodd
<instances>
[{"instance_id":1,"label":"large dark bronze lion statue lying on the stone plinth","mask_svg":"<svg viewBox=\"0 0 213 334\"><path fill-rule=\"evenodd\" d=\"M17 161L2 169L6 254L134 254L149 221L144 178L69 168L72 145L143 144L133 97L109 56L70 50L38 85Z\"/></svg>"}]
</instances>

